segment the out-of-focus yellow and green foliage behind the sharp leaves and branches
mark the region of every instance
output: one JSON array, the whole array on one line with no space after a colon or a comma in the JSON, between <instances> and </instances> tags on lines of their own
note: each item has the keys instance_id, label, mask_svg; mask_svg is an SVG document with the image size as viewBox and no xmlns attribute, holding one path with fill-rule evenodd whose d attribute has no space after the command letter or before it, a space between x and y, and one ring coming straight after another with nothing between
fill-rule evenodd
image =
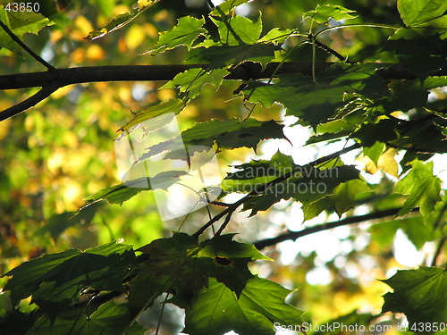
<instances>
[{"instance_id":1,"label":"out-of-focus yellow and green foliage behind the sharp leaves and branches","mask_svg":"<svg viewBox=\"0 0 447 335\"><path fill-rule=\"evenodd\" d=\"M274 27L300 27L304 31L309 29L309 23L301 20L301 13L325 3L328 2L257 0L239 10L240 14L252 18L262 10L264 31ZM401 24L393 0L330 3L357 11L358 19L350 23ZM183 48L156 57L145 53L156 44L158 33L171 29L179 17L188 13L200 18L209 12L205 0L161 1L125 28L105 38L85 39L90 31L104 26L111 17L125 13L133 5L135 3L130 0L72 1L63 13L51 18L54 25L42 29L38 35L26 35L24 41L58 68L179 63L185 51ZM340 29L325 34L322 41L348 55L351 61L392 63L394 56L379 48L391 33L386 29ZM299 38L292 38L288 47L299 42ZM311 46L300 47L289 60L309 62ZM335 61L320 50L316 60ZM5 49L0 51L0 63L2 74L45 71L30 55L18 57ZM43 253L70 247L93 247L117 238L139 247L168 236L170 230L179 229L182 218L161 222L150 192L133 197L122 207L102 203L91 206L83 217L69 220L73 212L85 204L86 197L120 182L114 156L116 130L131 119L132 113L172 98L173 90L158 90L163 84L129 82L69 86L58 90L29 112L0 123L1 273ZM217 92L214 87L206 87L179 116L181 130L197 121L246 116L248 111L241 100L231 100L232 91L238 86L238 82L228 81ZM0 109L20 102L33 92L35 89L0 92ZM441 91L438 94L445 95ZM259 107L257 110L257 118L261 120L279 120L280 115L279 107L270 110ZM303 130L302 137L306 139L308 135ZM259 146L257 154L263 155L267 148L268 144ZM223 175L230 171L229 164L245 162L249 156L255 157L255 154L248 149L219 154ZM386 186L384 178L378 187ZM192 214L184 230L197 230L206 217L205 210ZM408 224L411 224L410 219ZM240 239L252 242L274 236L286 228L298 230L299 225L299 207L282 202L250 219L247 214L236 215L232 230L240 231ZM402 268L393 252L398 228L397 225L371 226L367 223L316 234L312 239L299 239L296 244L285 242L266 250L267 255L277 261L257 264L257 272L286 287L300 288L291 297L291 302L299 309L308 310L305 317L314 323L350 314L356 309L378 314L383 303L380 296L387 291L387 286L375 279L387 278L393 269ZM420 237L426 232L407 231L407 235L411 233ZM417 249L433 251L433 245L424 247L424 242L422 238L416 243ZM318 248L321 243L330 243L332 252ZM414 245L415 239L406 243ZM297 245L299 253L293 251ZM428 260L422 259L422 264L424 262ZM4 281L4 278L0 279L1 284ZM167 313L166 317L169 315ZM154 320L157 317L154 315ZM175 322L173 318L167 324ZM165 331L175 333L176 330L176 326L170 326Z\"/></svg>"}]
</instances>

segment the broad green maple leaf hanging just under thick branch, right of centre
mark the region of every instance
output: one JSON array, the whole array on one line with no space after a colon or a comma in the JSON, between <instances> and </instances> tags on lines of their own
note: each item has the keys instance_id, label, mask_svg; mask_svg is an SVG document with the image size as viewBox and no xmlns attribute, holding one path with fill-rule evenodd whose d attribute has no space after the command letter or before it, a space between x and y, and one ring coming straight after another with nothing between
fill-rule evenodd
<instances>
[{"instance_id":1,"label":"broad green maple leaf hanging just under thick branch, right of centre","mask_svg":"<svg viewBox=\"0 0 447 335\"><path fill-rule=\"evenodd\" d=\"M375 65L336 65L320 72L316 80L311 77L284 74L277 83L251 82L244 89L249 102L270 107L274 102L283 104L287 114L309 123L314 130L319 123L329 121L337 109L344 105L345 92L358 92L365 96L384 96L384 80L375 73Z\"/></svg>"}]
</instances>

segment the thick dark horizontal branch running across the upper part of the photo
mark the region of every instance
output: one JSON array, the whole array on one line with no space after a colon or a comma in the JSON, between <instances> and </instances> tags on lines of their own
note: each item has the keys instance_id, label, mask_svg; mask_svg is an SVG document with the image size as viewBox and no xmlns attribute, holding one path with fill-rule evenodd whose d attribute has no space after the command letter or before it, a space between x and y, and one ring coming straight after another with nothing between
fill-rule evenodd
<instances>
[{"instance_id":1,"label":"thick dark horizontal branch running across the upper part of the photo","mask_svg":"<svg viewBox=\"0 0 447 335\"><path fill-rule=\"evenodd\" d=\"M316 63L316 72L324 71L335 63ZM274 73L279 63L268 63L262 71L259 63L242 63L234 69L225 80L268 79L273 74L301 73L311 75L311 63L283 63ZM410 80L415 76L408 70L396 64L376 63L377 73L384 80ZM207 69L207 64L178 64L178 65L115 65L115 66L86 66L69 69L55 69L31 73L16 73L0 76L0 89L37 88L50 84L59 87L72 84L98 81L156 81L173 80L186 70L194 68ZM439 71L438 76L447 75L447 71Z\"/></svg>"}]
</instances>

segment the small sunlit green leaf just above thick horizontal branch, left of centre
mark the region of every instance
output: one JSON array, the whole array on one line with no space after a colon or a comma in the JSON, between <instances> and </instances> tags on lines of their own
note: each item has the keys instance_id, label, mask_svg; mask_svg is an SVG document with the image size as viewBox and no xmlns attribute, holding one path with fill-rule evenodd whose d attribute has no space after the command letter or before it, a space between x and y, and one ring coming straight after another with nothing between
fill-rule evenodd
<instances>
[{"instance_id":1,"label":"small sunlit green leaf just above thick horizontal branch, left of centre","mask_svg":"<svg viewBox=\"0 0 447 335\"><path fill-rule=\"evenodd\" d=\"M204 23L204 19L196 19L191 16L181 17L173 29L160 34L151 54L160 54L177 46L186 46L190 50L194 41L207 32L206 29L201 28Z\"/></svg>"}]
</instances>

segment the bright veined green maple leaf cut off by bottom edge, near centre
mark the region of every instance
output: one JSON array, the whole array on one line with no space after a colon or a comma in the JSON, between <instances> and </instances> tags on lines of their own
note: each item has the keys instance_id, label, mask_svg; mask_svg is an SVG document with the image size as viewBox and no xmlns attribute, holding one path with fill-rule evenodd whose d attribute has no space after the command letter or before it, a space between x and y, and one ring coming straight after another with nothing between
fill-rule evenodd
<instances>
[{"instance_id":1,"label":"bright veined green maple leaf cut off by bottom edge, near centre","mask_svg":"<svg viewBox=\"0 0 447 335\"><path fill-rule=\"evenodd\" d=\"M182 332L194 335L274 335L274 323L297 326L302 312L284 302L291 290L273 281L252 278L238 298L232 290L210 279L192 306L186 308Z\"/></svg>"}]
</instances>

